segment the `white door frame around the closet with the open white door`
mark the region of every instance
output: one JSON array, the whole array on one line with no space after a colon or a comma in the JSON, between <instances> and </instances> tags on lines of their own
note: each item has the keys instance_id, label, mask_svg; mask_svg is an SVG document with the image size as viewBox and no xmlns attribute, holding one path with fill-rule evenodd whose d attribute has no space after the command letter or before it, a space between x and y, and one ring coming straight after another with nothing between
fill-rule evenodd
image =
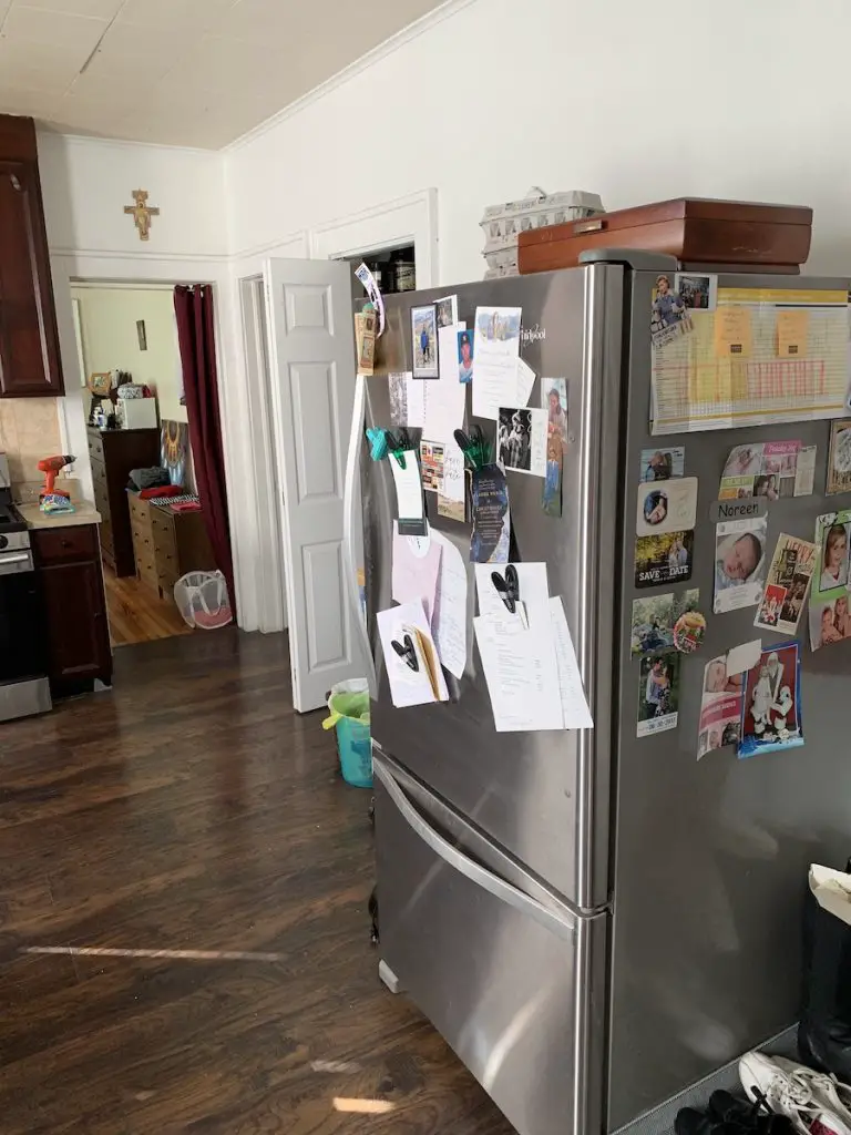
<instances>
[{"instance_id":1,"label":"white door frame around the closet with the open white door","mask_svg":"<svg viewBox=\"0 0 851 1135\"><path fill-rule=\"evenodd\" d=\"M281 497L275 446L278 444L271 427L271 392L262 375L252 367L246 342L254 334L251 304L243 302L243 285L252 279L262 279L263 261L268 258L339 260L356 257L378 249L414 246L414 264L418 291L437 287L438 284L438 224L437 190L421 190L408 196L385 202L373 209L339 218L327 225L306 230L301 229L284 237L273 245L252 250L251 254L237 257L231 262L229 280L233 297L233 339L241 345L234 359L235 371L242 388L246 390L250 452L258 487L271 486L269 497L277 507ZM256 413L254 412L256 411ZM267 505L268 506L268 505ZM288 625L286 590L284 579L284 556L280 531L275 531L267 519L267 506L260 513L258 532L260 545L252 574L254 603L258 614L256 625L261 631L284 630ZM258 510L259 494L251 502ZM268 571L263 570L268 564Z\"/></svg>"}]
</instances>

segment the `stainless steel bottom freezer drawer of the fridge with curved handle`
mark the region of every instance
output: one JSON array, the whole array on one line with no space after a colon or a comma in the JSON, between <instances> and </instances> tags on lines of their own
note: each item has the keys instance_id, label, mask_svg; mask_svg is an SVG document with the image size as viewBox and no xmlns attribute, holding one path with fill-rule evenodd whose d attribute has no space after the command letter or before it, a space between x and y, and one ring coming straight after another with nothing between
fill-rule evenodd
<instances>
[{"instance_id":1,"label":"stainless steel bottom freezer drawer of the fridge with curved handle","mask_svg":"<svg viewBox=\"0 0 851 1135\"><path fill-rule=\"evenodd\" d=\"M532 898L460 846L426 789L374 772L380 948L402 992L520 1135L601 1129L608 915Z\"/></svg>"}]
</instances>

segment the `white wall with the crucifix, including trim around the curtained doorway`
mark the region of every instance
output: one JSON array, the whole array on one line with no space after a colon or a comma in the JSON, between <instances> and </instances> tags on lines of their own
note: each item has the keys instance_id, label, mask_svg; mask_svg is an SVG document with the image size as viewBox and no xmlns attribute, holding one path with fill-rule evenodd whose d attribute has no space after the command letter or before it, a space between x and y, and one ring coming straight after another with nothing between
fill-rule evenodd
<instances>
[{"instance_id":1,"label":"white wall with the crucifix, including trim around the curtained doorway","mask_svg":"<svg viewBox=\"0 0 851 1135\"><path fill-rule=\"evenodd\" d=\"M75 474L92 495L86 405L79 384L70 287L75 279L211 283L216 286L225 466L239 625L258 627L256 524L242 376L233 368L234 320L220 153L39 134L39 166L66 397L57 400L62 448L82 455ZM160 209L148 242L125 216L132 191ZM226 334L227 333L227 334Z\"/></svg>"}]
</instances>

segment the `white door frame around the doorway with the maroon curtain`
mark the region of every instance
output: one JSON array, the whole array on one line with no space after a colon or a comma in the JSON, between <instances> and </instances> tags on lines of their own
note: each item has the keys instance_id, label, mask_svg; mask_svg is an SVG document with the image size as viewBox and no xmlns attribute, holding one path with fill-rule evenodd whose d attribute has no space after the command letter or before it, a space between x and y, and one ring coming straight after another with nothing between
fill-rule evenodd
<instances>
[{"instance_id":1,"label":"white door frame around the doorway with the maroon curtain","mask_svg":"<svg viewBox=\"0 0 851 1135\"><path fill-rule=\"evenodd\" d=\"M228 302L228 272L225 261L218 257L154 258L115 255L108 253L53 252L50 255L53 277L57 323L59 327L59 352L65 375L65 397L58 398L59 436L66 453L77 456L75 476L81 481L83 495L94 496L92 466L89 460L86 435L86 412L84 406L83 376L79 375L77 339L74 329L71 285L98 283L138 287L176 284L209 284L213 289L216 311L216 354L221 411L221 440L225 451L225 482L230 519L230 548L234 562L234 585L236 588L237 624L243 630L256 629L256 602L251 583L253 540L243 531L247 502L254 497L251 477L236 476L236 471L251 466L251 439L238 414L239 390L229 390L226 375L231 368L227 353L227 338L222 336L224 311ZM76 376L76 380L74 379Z\"/></svg>"}]
</instances>

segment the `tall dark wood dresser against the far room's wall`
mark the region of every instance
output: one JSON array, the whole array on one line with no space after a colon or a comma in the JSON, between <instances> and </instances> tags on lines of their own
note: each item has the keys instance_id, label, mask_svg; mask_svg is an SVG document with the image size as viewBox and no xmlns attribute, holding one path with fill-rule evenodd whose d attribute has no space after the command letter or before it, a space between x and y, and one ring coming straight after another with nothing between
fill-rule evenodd
<instances>
[{"instance_id":1,"label":"tall dark wood dresser against the far room's wall","mask_svg":"<svg viewBox=\"0 0 851 1135\"><path fill-rule=\"evenodd\" d=\"M160 463L158 429L89 428L89 456L92 462L94 506L103 518L101 553L116 575L135 575L130 512L127 507L127 479L132 469Z\"/></svg>"}]
</instances>

